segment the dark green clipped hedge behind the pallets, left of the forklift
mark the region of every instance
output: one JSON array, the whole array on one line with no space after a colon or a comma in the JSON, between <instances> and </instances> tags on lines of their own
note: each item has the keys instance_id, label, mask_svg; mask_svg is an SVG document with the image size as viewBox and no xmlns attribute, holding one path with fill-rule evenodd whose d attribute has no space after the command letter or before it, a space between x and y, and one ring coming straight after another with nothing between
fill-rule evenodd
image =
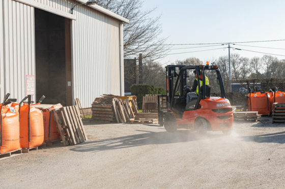
<instances>
[{"instance_id":1,"label":"dark green clipped hedge behind the pallets, left of the forklift","mask_svg":"<svg viewBox=\"0 0 285 189\"><path fill-rule=\"evenodd\" d=\"M154 87L153 85L134 84L131 86L131 94L136 96L138 108L143 106L143 96L146 94L166 95L166 90L162 87Z\"/></svg>"}]
</instances>

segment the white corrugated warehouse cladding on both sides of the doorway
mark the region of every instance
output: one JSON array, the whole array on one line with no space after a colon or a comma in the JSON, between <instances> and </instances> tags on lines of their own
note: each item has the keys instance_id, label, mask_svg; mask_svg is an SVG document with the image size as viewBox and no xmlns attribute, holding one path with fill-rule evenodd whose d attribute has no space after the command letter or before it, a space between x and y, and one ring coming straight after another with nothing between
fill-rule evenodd
<instances>
[{"instance_id":1,"label":"white corrugated warehouse cladding on both sides of the doorway","mask_svg":"<svg viewBox=\"0 0 285 189\"><path fill-rule=\"evenodd\" d=\"M2 9L4 19L1 20L4 23L0 24L5 31L5 51L2 53L5 57L0 52L0 63L5 59L6 92L11 93L13 98L22 99L26 95L25 75L35 75L34 8L13 0L2 1L5 8ZM65 0L34 1L67 13L77 3ZM79 98L82 107L86 108L91 107L94 99L102 94L120 95L119 35L122 33L119 32L119 20L88 6L75 7L74 14L76 20L71 23L73 98ZM0 40L0 45L2 42ZM3 63L0 65L3 86ZM4 97L3 87L1 99Z\"/></svg>"}]
</instances>

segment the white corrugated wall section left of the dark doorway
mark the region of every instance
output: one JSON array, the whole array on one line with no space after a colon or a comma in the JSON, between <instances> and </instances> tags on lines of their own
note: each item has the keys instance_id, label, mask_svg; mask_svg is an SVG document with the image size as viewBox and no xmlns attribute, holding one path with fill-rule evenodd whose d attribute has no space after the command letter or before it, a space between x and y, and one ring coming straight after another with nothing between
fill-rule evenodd
<instances>
[{"instance_id":1,"label":"white corrugated wall section left of the dark doorway","mask_svg":"<svg viewBox=\"0 0 285 189\"><path fill-rule=\"evenodd\" d=\"M26 96L26 75L35 75L34 8L12 0L3 5L6 93L20 101Z\"/></svg>"}]
</instances>

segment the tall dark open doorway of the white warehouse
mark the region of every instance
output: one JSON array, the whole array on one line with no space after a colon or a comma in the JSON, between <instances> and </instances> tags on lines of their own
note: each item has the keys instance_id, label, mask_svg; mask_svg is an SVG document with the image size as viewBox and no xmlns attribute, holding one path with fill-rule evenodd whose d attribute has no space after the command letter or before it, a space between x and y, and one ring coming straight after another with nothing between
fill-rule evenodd
<instances>
[{"instance_id":1,"label":"tall dark open doorway of the white warehouse","mask_svg":"<svg viewBox=\"0 0 285 189\"><path fill-rule=\"evenodd\" d=\"M35 8L36 99L72 105L70 19Z\"/></svg>"}]
</instances>

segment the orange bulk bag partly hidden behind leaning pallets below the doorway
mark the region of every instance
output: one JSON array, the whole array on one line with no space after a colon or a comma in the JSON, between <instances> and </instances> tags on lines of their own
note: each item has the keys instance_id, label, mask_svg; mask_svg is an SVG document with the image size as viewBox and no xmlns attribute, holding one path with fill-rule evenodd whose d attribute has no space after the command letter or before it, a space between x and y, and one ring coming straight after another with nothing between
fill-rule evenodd
<instances>
[{"instance_id":1,"label":"orange bulk bag partly hidden behind leaning pallets below the doorway","mask_svg":"<svg viewBox=\"0 0 285 189\"><path fill-rule=\"evenodd\" d=\"M61 135L56 127L56 122L53 119L54 115L52 109L61 108L61 104L36 104L34 107L39 108L43 111L44 117L44 141L58 140Z\"/></svg>"}]
</instances>

